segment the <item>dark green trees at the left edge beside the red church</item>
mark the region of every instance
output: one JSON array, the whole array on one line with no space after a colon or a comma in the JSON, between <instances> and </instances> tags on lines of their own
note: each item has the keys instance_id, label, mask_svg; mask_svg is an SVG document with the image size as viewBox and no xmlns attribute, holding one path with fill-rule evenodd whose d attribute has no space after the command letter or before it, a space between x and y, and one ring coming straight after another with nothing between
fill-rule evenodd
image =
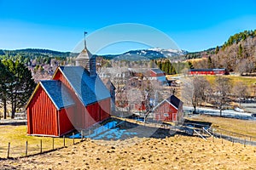
<instances>
[{"instance_id":1,"label":"dark green trees at the left edge beside the red church","mask_svg":"<svg viewBox=\"0 0 256 170\"><path fill-rule=\"evenodd\" d=\"M11 117L26 105L36 84L32 73L20 60L0 60L0 107L3 107L3 118L7 118L8 106Z\"/></svg>"}]
</instances>

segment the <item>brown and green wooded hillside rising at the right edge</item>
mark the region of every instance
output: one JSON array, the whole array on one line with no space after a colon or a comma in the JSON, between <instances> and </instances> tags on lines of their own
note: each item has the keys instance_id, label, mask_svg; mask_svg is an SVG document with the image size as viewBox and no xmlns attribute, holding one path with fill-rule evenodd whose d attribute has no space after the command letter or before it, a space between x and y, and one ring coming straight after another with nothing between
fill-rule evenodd
<instances>
[{"instance_id":1,"label":"brown and green wooded hillside rising at the right edge","mask_svg":"<svg viewBox=\"0 0 256 170\"><path fill-rule=\"evenodd\" d=\"M192 56L192 57L191 57ZM190 57L190 58L189 58ZM223 45L196 55L187 54L195 68L225 68L228 71L251 73L256 71L256 30L236 33Z\"/></svg>"}]
</instances>

